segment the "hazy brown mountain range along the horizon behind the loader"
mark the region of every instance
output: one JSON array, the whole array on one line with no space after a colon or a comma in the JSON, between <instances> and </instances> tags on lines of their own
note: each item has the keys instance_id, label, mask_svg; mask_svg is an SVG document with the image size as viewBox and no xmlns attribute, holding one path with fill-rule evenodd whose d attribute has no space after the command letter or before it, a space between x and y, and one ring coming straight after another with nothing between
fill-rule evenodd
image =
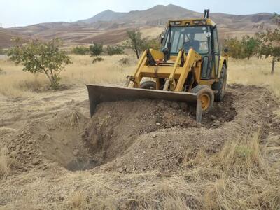
<instances>
[{"instance_id":1,"label":"hazy brown mountain range along the horizon behind the loader","mask_svg":"<svg viewBox=\"0 0 280 210\"><path fill-rule=\"evenodd\" d=\"M69 43L104 44L118 43L126 38L126 31L138 28L144 31L144 36L157 37L168 20L183 18L200 18L203 13L169 4L158 5L147 10L134 10L129 13L116 13L105 10L92 18L77 22L49 22L27 27L14 27L6 29L11 34L20 34L27 37L54 38L59 37ZM252 15L230 15L225 13L210 13L219 28L220 37L253 35L257 31L274 27L272 13L258 13ZM0 43L0 47L6 44Z\"/></svg>"}]
</instances>

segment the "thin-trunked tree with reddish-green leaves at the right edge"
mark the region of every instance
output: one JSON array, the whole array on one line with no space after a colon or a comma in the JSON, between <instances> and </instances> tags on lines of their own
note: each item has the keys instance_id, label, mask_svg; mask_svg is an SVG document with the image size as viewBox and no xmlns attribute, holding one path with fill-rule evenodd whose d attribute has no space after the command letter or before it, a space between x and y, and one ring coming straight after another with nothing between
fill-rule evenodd
<instances>
[{"instance_id":1,"label":"thin-trunked tree with reddish-green leaves at the right edge","mask_svg":"<svg viewBox=\"0 0 280 210\"><path fill-rule=\"evenodd\" d=\"M280 62L280 29L267 29L265 33L258 34L262 39L260 56L272 57L272 71L274 74L276 62Z\"/></svg>"}]
</instances>

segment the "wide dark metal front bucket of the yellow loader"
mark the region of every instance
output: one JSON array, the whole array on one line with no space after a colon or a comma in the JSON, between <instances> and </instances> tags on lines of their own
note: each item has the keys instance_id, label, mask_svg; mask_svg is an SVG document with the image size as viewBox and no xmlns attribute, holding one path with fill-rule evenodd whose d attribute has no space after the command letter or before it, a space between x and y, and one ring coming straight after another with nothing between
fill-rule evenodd
<instances>
[{"instance_id":1,"label":"wide dark metal front bucket of the yellow loader","mask_svg":"<svg viewBox=\"0 0 280 210\"><path fill-rule=\"evenodd\" d=\"M196 104L197 122L202 120L202 106L197 94L189 92L172 92L162 90L146 90L128 87L111 87L102 85L87 85L90 99L90 116L93 116L97 104L102 102L115 102L137 99L160 99L174 102Z\"/></svg>"}]
</instances>

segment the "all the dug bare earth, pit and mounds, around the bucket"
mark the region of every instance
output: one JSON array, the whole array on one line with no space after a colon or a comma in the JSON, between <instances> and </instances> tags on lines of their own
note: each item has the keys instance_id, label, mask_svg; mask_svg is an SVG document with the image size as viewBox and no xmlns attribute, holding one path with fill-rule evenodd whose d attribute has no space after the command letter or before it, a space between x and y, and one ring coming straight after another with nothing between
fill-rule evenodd
<instances>
[{"instance_id":1,"label":"all the dug bare earth, pit and mounds, around the bucket","mask_svg":"<svg viewBox=\"0 0 280 210\"><path fill-rule=\"evenodd\" d=\"M266 136L276 127L270 120L275 104L268 90L240 85L229 87L225 100L214 104L202 123L184 103L105 102L92 119L75 109L87 104L74 104L12 132L8 149L18 162L15 168L23 171L55 164L71 171L172 172L200 150L216 153L225 141L262 125L269 128Z\"/></svg>"}]
</instances>

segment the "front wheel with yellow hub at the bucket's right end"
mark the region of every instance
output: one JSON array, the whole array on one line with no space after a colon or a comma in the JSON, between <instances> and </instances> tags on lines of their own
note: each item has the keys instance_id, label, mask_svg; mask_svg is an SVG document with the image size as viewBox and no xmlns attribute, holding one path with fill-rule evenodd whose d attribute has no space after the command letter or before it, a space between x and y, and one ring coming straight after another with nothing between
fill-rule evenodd
<instances>
[{"instance_id":1,"label":"front wheel with yellow hub at the bucket's right end","mask_svg":"<svg viewBox=\"0 0 280 210\"><path fill-rule=\"evenodd\" d=\"M202 112L209 112L214 105L214 92L207 85L197 85L190 92L197 94L202 102Z\"/></svg>"}]
</instances>

